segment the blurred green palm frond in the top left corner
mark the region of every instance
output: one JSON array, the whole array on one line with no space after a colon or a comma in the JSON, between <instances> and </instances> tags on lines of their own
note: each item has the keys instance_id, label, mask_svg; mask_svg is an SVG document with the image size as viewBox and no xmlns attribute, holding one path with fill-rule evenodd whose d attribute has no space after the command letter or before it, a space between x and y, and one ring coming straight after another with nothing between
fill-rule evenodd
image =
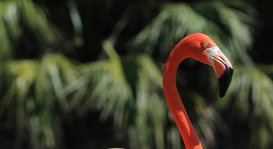
<instances>
[{"instance_id":1,"label":"blurred green palm frond in the top left corner","mask_svg":"<svg viewBox=\"0 0 273 149\"><path fill-rule=\"evenodd\" d=\"M21 35L24 23L43 46L49 48L58 42L58 32L47 20L44 11L32 0L0 1L0 61L12 55L13 45ZM23 22L20 22L22 20Z\"/></svg>"}]
</instances>

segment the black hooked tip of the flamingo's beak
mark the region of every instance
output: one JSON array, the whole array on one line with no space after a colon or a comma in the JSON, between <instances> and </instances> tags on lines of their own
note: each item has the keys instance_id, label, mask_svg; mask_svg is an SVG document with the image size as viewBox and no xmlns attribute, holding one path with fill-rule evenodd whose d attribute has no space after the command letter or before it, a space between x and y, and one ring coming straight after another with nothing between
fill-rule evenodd
<instances>
[{"instance_id":1,"label":"black hooked tip of the flamingo's beak","mask_svg":"<svg viewBox=\"0 0 273 149\"><path fill-rule=\"evenodd\" d=\"M231 67L228 67L228 68L226 67L224 74L221 75L220 78L218 78L220 98L225 96L228 90L229 84L231 82L232 75L233 75L233 69Z\"/></svg>"}]
</instances>

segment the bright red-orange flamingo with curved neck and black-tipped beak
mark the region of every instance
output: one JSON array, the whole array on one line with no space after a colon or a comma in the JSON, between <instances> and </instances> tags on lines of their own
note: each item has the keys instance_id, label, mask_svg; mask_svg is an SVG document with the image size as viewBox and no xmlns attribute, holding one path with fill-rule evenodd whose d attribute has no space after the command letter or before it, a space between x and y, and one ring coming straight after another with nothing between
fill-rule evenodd
<instances>
[{"instance_id":1,"label":"bright red-orange flamingo with curved neck and black-tipped beak","mask_svg":"<svg viewBox=\"0 0 273 149\"><path fill-rule=\"evenodd\" d=\"M219 82L219 95L221 98L227 92L233 68L217 45L202 33L194 33L183 38L173 49L165 63L163 71L164 94L185 147L186 149L202 149L176 87L178 66L186 58L193 58L214 68Z\"/></svg>"}]
</instances>

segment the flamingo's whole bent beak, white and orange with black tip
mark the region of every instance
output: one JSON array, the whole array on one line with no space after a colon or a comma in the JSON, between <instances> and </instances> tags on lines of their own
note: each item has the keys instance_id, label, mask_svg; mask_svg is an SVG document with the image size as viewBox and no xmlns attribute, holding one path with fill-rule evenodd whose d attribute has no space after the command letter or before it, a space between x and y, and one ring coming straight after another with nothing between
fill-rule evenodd
<instances>
[{"instance_id":1,"label":"flamingo's whole bent beak, white and orange with black tip","mask_svg":"<svg viewBox=\"0 0 273 149\"><path fill-rule=\"evenodd\" d=\"M210 47L207 49L209 61L217 74L219 82L219 95L224 97L232 79L233 68L226 56L218 47Z\"/></svg>"}]
</instances>

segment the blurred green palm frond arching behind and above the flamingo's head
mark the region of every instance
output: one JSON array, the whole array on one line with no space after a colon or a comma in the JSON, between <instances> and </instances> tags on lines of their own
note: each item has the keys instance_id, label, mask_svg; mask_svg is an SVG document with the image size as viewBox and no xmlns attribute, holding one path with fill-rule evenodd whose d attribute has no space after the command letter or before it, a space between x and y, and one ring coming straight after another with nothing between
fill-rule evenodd
<instances>
[{"instance_id":1,"label":"blurred green palm frond arching behind and above the flamingo's head","mask_svg":"<svg viewBox=\"0 0 273 149\"><path fill-rule=\"evenodd\" d=\"M200 13L202 9L208 13ZM195 11L199 9L200 12ZM216 12L216 16L212 14ZM241 12L241 11L240 11ZM251 17L244 12L245 17ZM212 19L219 18L219 22ZM226 30L222 29L222 24ZM236 24L236 25L234 25ZM173 47L185 35L202 32L210 36L224 51L231 62L251 64L247 46L252 42L250 25L234 9L221 2L206 2L188 5L170 3L163 6L161 12L131 42L136 49L143 49L147 54L159 53L166 59ZM138 50L139 51L139 50ZM233 60L234 59L234 60Z\"/></svg>"}]
</instances>

